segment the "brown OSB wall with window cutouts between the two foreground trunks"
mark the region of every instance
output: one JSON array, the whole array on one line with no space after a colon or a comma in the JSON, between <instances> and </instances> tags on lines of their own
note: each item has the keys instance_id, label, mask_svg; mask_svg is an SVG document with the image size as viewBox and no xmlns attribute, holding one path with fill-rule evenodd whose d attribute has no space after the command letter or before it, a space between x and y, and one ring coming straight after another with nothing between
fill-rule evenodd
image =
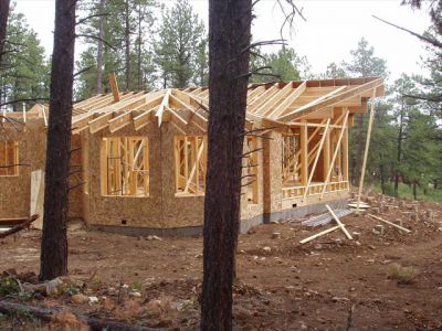
<instances>
[{"instance_id":1,"label":"brown OSB wall with window cutouts between the two foreground trunks","mask_svg":"<svg viewBox=\"0 0 442 331\"><path fill-rule=\"evenodd\" d=\"M206 132L189 124L188 136L203 136ZM88 196L83 201L85 218L94 225L120 225L134 227L185 227L202 224L203 196L175 196L175 136L182 136L171 122L161 128L150 122L136 131L133 125L115 134L105 129L95 135L85 134L88 141ZM99 145L104 137L139 136L149 141L149 196L103 196L99 178ZM86 138L88 137L88 138ZM125 221L125 225L123 224Z\"/></svg>"}]
</instances>

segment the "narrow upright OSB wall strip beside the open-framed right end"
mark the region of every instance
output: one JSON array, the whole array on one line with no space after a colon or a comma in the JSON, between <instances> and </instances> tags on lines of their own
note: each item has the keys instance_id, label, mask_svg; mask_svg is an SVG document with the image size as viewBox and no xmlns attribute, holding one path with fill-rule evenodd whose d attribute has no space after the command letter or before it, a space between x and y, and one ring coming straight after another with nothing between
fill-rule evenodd
<instances>
[{"instance_id":1,"label":"narrow upright OSB wall strip beside the open-framed right end","mask_svg":"<svg viewBox=\"0 0 442 331\"><path fill-rule=\"evenodd\" d=\"M263 140L264 213L280 212L282 209L282 135L270 131Z\"/></svg>"}]
</instances>

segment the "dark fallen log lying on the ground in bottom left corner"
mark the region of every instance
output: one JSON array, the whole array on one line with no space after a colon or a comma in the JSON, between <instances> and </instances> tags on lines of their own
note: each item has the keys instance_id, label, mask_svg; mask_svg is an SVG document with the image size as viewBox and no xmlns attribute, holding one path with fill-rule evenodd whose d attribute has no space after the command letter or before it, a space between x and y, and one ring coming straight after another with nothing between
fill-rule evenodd
<instances>
[{"instance_id":1,"label":"dark fallen log lying on the ground in bottom left corner","mask_svg":"<svg viewBox=\"0 0 442 331\"><path fill-rule=\"evenodd\" d=\"M28 306L8 301L0 301L0 312L6 314L14 314L19 311L28 311L43 321L52 321L56 314L62 313L60 309L48 309L36 306ZM161 329L151 329L141 325L133 325L125 322L102 320L83 314L75 314L78 319L86 322L92 330L122 330L122 331L154 331Z\"/></svg>"}]
</instances>

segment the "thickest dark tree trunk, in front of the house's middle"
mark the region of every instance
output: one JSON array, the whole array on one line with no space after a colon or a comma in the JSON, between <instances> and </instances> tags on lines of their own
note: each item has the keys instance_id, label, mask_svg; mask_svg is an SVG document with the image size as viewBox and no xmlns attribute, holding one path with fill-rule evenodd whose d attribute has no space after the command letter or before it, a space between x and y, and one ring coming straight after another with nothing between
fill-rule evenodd
<instances>
[{"instance_id":1,"label":"thickest dark tree trunk, in front of the house's middle","mask_svg":"<svg viewBox=\"0 0 442 331\"><path fill-rule=\"evenodd\" d=\"M204 331L232 330L251 8L252 0L209 1L210 113L201 305Z\"/></svg>"}]
</instances>

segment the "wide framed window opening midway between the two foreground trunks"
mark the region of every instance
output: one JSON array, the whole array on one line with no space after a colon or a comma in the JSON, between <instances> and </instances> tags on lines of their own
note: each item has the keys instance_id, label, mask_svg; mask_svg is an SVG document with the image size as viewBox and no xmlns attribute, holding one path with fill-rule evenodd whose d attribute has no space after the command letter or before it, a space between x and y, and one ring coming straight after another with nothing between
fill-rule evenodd
<instances>
[{"instance_id":1,"label":"wide framed window opening midway between the two foreground trunks","mask_svg":"<svg viewBox=\"0 0 442 331\"><path fill-rule=\"evenodd\" d=\"M147 138L103 138L101 168L103 195L149 196Z\"/></svg>"}]
</instances>

